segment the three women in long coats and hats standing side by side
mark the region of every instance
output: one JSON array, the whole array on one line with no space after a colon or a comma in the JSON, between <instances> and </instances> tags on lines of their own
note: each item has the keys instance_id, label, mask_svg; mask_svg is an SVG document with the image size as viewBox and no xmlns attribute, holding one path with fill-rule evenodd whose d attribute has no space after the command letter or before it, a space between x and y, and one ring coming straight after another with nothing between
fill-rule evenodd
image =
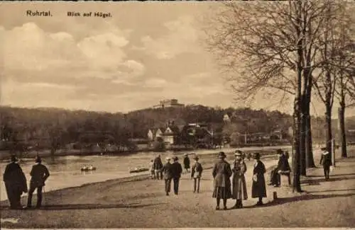
<instances>
[{"instance_id":1,"label":"three women in long coats and hats standing side by side","mask_svg":"<svg viewBox=\"0 0 355 230\"><path fill-rule=\"evenodd\" d=\"M214 190L212 197L217 199L216 209L219 210L220 201L223 200L223 208L227 209L226 201L228 199L236 200L233 208L239 209L243 207L242 200L248 199L246 190L246 163L244 162L244 154L236 150L234 153L235 160L233 167L226 161L226 154L223 151L219 152L217 163L214 164L212 176L214 178ZM260 161L260 154L256 153L253 156L255 159L253 168L253 181L251 187L251 197L258 198L256 205L263 205L263 197L266 197L266 184L264 173L266 168L263 162ZM232 179L230 180L230 177Z\"/></svg>"}]
</instances>

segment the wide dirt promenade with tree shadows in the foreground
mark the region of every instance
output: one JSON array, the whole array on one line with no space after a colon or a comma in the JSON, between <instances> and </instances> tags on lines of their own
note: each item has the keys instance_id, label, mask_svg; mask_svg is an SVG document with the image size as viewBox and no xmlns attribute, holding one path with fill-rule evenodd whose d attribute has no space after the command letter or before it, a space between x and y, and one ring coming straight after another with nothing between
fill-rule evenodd
<instances>
[{"instance_id":1,"label":"wide dirt promenade with tree shadows in the foreground","mask_svg":"<svg viewBox=\"0 0 355 230\"><path fill-rule=\"evenodd\" d=\"M355 154L353 154L355 156ZM275 164L268 161L266 167ZM317 163L317 157L316 157ZM252 162L248 163L247 187L250 197ZM214 210L211 170L204 171L202 192L192 192L192 180L184 174L180 194L165 196L163 181L116 180L48 192L45 209L1 209L1 222L9 228L175 228L175 227L354 227L355 158L337 161L329 181L322 168L308 171L302 180L303 194L285 188L267 187L267 203L254 206L246 200L244 209ZM268 179L268 176L266 176ZM273 192L278 200L273 200ZM1 203L3 205L3 203ZM227 202L228 207L234 200Z\"/></svg>"}]
</instances>

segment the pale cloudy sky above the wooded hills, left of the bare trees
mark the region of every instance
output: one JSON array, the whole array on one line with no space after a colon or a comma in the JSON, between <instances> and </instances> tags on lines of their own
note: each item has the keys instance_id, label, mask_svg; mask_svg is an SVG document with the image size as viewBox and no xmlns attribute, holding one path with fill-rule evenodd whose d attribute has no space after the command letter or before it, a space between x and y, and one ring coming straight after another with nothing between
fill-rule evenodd
<instances>
[{"instance_id":1,"label":"pale cloudy sky above the wooded hills, left of the bare trees","mask_svg":"<svg viewBox=\"0 0 355 230\"><path fill-rule=\"evenodd\" d=\"M203 18L218 6L207 1L2 3L0 103L125 113L176 98L237 107L203 42ZM53 16L28 17L26 10L50 10ZM68 17L67 11L112 17ZM292 111L291 103L280 106L272 99L260 96L253 108ZM315 103L313 112L323 115L323 106Z\"/></svg>"}]
</instances>

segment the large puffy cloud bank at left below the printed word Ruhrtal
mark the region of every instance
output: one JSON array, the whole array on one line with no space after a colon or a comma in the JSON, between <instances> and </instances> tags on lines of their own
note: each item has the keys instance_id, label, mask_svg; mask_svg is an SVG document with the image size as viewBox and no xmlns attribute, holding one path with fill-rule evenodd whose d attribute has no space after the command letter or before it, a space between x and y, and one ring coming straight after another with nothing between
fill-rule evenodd
<instances>
[{"instance_id":1,"label":"large puffy cloud bank at left below the printed word Ruhrtal","mask_svg":"<svg viewBox=\"0 0 355 230\"><path fill-rule=\"evenodd\" d=\"M2 50L4 75L19 82L47 82L79 78L101 78L114 81L117 74L139 76L143 64L127 59L124 47L129 45L127 31L111 28L109 33L75 38L67 32L47 33L35 23L5 30ZM31 78L29 77L31 76Z\"/></svg>"}]
</instances>

